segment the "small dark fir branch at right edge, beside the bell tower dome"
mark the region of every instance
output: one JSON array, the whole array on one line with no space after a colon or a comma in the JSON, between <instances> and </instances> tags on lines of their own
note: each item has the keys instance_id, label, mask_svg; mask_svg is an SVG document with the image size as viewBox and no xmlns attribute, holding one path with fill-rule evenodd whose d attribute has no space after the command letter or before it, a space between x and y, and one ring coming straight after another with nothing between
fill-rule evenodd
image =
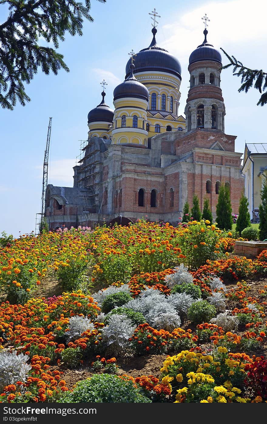
<instances>
[{"instance_id":1,"label":"small dark fir branch at right edge, beside the bell tower dome","mask_svg":"<svg viewBox=\"0 0 267 424\"><path fill-rule=\"evenodd\" d=\"M263 70L257 70L257 69L249 69L245 67L239 60L236 60L234 56L229 56L221 47L221 50L223 53L225 53L225 56L228 57L230 63L223 66L222 69L227 69L230 66L233 66L233 75L236 75L238 77L241 76L241 82L242 86L239 88L238 92L245 91L245 93L248 92L248 90L253 86L254 80L254 88L259 90L261 93L262 89L267 88L267 73L263 72ZM267 103L267 92L263 93L257 103L257 106Z\"/></svg>"}]
</instances>

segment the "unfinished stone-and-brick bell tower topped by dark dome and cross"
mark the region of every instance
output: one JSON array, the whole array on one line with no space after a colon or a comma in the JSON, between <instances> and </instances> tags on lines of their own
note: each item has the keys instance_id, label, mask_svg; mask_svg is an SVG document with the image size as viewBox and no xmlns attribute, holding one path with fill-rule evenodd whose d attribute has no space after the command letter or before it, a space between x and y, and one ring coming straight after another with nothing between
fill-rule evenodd
<instances>
[{"instance_id":1,"label":"unfinished stone-and-brick bell tower topped by dark dome and cross","mask_svg":"<svg viewBox=\"0 0 267 424\"><path fill-rule=\"evenodd\" d=\"M204 41L189 57L190 89L185 106L186 131L197 128L225 132L225 104L220 88L222 56L207 41L207 15Z\"/></svg>"}]
</instances>

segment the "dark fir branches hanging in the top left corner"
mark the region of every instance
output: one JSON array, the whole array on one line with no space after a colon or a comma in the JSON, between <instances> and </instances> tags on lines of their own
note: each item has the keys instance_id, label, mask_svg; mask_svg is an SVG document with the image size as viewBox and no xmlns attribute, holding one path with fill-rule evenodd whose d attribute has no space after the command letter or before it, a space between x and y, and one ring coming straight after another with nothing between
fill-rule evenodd
<instances>
[{"instance_id":1,"label":"dark fir branches hanging in the top left corner","mask_svg":"<svg viewBox=\"0 0 267 424\"><path fill-rule=\"evenodd\" d=\"M57 75L61 68L69 72L64 56L40 45L39 40L52 42L58 49L59 42L65 41L66 32L82 36L84 18L90 22L93 18L89 14L90 0L85 0L84 5L75 0L1 0L0 3L9 6L8 18L3 22L2 15L0 25L0 103L3 108L13 110L17 99L22 106L31 100L23 84L30 83L39 67L46 75L50 71Z\"/></svg>"}]
</instances>

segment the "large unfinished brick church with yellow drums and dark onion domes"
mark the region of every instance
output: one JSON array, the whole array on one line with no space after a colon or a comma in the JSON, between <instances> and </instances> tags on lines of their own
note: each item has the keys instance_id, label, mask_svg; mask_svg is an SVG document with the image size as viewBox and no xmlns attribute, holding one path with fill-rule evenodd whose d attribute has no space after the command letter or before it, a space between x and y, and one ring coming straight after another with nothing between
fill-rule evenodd
<instances>
[{"instance_id":1,"label":"large unfinished brick church with yellow drums and dark onion domes","mask_svg":"<svg viewBox=\"0 0 267 424\"><path fill-rule=\"evenodd\" d=\"M138 219L176 226L194 193L203 207L209 199L216 218L221 184L230 188L238 214L244 188L236 136L225 134L220 88L222 57L207 41L189 56L190 87L185 117L179 114L181 65L156 41L130 53L125 80L115 87L113 106L102 100L88 113L88 140L73 187L48 184L45 219L50 230L106 222L127 225ZM197 44L197 43L196 43Z\"/></svg>"}]
</instances>

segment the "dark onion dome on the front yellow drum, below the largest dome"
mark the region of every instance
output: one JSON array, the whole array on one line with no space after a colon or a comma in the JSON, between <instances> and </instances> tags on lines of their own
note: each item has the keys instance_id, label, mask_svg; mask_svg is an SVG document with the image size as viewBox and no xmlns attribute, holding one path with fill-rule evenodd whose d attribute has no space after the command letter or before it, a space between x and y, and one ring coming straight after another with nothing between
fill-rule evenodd
<instances>
[{"instance_id":1,"label":"dark onion dome on the front yellow drum, below the largest dome","mask_svg":"<svg viewBox=\"0 0 267 424\"><path fill-rule=\"evenodd\" d=\"M119 84L114 92L114 100L126 98L126 97L136 97L146 100L148 102L149 91L141 84L141 82L137 81L135 76L133 75L133 70L135 69L135 65L131 63L129 65L130 75L124 82Z\"/></svg>"}]
</instances>

